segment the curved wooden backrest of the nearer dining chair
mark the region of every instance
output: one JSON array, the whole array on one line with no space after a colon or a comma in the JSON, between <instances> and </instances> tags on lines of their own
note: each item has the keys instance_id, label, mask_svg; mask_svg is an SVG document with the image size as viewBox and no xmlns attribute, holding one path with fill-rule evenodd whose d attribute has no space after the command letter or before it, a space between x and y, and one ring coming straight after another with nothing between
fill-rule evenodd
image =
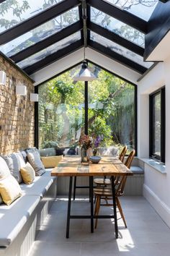
<instances>
[{"instance_id":1,"label":"curved wooden backrest of the nearer dining chair","mask_svg":"<svg viewBox=\"0 0 170 256\"><path fill-rule=\"evenodd\" d=\"M132 150L130 152L130 154L128 155L128 158L125 161L125 166L127 166L128 168L130 168L130 166L132 164L134 155L135 155L135 150ZM116 187L116 192L115 192L117 197L120 197L121 195L124 194L126 179L127 179L127 176L118 176L117 177L118 182L117 182L117 187Z\"/></svg>"}]
</instances>

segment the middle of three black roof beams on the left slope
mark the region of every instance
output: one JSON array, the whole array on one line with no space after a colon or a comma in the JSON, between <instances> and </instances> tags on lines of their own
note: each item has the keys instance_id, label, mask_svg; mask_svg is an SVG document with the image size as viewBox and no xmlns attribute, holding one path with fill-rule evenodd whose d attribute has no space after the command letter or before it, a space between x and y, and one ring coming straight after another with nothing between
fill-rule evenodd
<instances>
[{"instance_id":1,"label":"middle of three black roof beams on the left slope","mask_svg":"<svg viewBox=\"0 0 170 256\"><path fill-rule=\"evenodd\" d=\"M66 38L68 35L76 33L77 31L81 30L82 27L82 22L76 22L66 28L63 28L63 30L59 31L58 33L51 35L49 38L45 38L39 43L35 43L34 45L24 49L23 51L19 51L18 54L14 54L9 58L12 59L14 62L22 61L23 59L26 59L33 54L36 54L38 51L41 51L48 46L51 46L53 43L57 43L59 40Z\"/></svg>"}]
</instances>

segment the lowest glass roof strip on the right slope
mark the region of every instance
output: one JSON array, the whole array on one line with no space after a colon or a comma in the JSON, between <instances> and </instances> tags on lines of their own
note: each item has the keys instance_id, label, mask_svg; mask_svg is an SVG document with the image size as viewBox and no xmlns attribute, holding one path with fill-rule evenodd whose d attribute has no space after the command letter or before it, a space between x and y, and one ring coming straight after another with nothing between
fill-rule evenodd
<instances>
[{"instance_id":1,"label":"lowest glass roof strip on the right slope","mask_svg":"<svg viewBox=\"0 0 170 256\"><path fill-rule=\"evenodd\" d=\"M127 48L122 47L119 44L114 43L111 40L104 38L102 35L98 35L97 33L94 33L92 31L90 33L90 39L94 40L94 42L102 44L102 46L105 46L112 51L115 51L117 54L120 54L125 58L130 59L131 61L134 61L135 63L138 63L143 67L146 67L147 69L153 64L153 62L144 62L143 57L135 54L133 51L130 51Z\"/></svg>"}]
</instances>

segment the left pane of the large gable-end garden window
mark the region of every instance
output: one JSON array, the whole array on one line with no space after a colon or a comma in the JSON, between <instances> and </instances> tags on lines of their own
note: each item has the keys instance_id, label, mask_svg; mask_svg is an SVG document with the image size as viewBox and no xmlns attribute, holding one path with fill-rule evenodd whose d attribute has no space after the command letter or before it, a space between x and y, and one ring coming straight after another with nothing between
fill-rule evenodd
<instances>
[{"instance_id":1,"label":"left pane of the large gable-end garden window","mask_svg":"<svg viewBox=\"0 0 170 256\"><path fill-rule=\"evenodd\" d=\"M74 146L84 131L84 82L73 82L76 67L40 85L39 147Z\"/></svg>"}]
</instances>

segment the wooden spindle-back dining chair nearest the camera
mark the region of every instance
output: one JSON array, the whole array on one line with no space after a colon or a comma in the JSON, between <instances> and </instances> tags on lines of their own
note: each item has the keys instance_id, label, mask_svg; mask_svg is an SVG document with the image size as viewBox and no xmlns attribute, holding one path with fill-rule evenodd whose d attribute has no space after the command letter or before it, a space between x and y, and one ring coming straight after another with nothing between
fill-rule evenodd
<instances>
[{"instance_id":1,"label":"wooden spindle-back dining chair nearest the camera","mask_svg":"<svg viewBox=\"0 0 170 256\"><path fill-rule=\"evenodd\" d=\"M127 160L125 161L125 166L127 166L128 168L130 168L133 158L135 155L135 150L132 150L130 152L130 154L128 155ZM116 200L116 205L117 208L120 211L120 216L122 217L122 220L125 224L125 228L127 228L127 224L125 221L125 216L122 212L122 207L120 205L120 200L119 197L121 197L122 195L124 195L124 188L125 188L125 182L126 182L127 176L117 176L115 179L115 200ZM95 210L94 210L94 216L98 216L99 215L99 208L101 205L101 199L107 199L110 200L112 199L112 187L97 187L94 189L94 195L96 197L96 205L95 205ZM106 200L106 204L104 204L104 206L112 206L112 204L109 204L108 201ZM97 229L97 221L98 219L96 219L96 223L95 223L95 229Z\"/></svg>"}]
</instances>

